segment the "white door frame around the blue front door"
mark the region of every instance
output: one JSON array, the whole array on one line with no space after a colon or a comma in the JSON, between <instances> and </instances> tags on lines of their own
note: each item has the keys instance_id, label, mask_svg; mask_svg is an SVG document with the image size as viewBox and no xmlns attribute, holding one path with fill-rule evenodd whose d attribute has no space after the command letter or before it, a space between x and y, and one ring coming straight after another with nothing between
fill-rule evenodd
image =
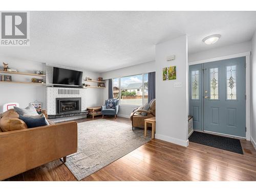
<instances>
[{"instance_id":1,"label":"white door frame around the blue front door","mask_svg":"<svg viewBox=\"0 0 256 192\"><path fill-rule=\"evenodd\" d=\"M237 54L232 54L232 55L226 55L226 56L221 56L221 57L215 57L215 58L210 58L210 59L203 59L203 60L198 60L198 61L193 61L193 62L188 62L188 66L192 65L197 65L205 62L212 62L212 61L219 61L219 60L225 60L225 59L231 59L231 58L237 58L237 57L245 57L245 63L246 63L246 70L245 70L245 83L246 83L246 140L250 141L251 140L251 109L250 109L250 103L251 103L251 92L250 92L250 55L251 52L243 52L243 53L237 53ZM189 74L188 74L189 75ZM188 77L188 82L190 81ZM189 84L189 83L188 83ZM189 98L189 87L188 87L188 97ZM188 99L188 108L189 108L189 99ZM189 111L189 110L188 110Z\"/></svg>"}]
</instances>

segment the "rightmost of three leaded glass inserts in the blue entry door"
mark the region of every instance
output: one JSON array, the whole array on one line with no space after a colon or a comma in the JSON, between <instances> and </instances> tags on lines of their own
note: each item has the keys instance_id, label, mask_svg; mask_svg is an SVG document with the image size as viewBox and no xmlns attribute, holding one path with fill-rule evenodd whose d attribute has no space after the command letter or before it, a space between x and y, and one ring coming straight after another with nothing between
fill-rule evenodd
<instances>
[{"instance_id":1,"label":"rightmost of three leaded glass inserts in the blue entry door","mask_svg":"<svg viewBox=\"0 0 256 192\"><path fill-rule=\"evenodd\" d=\"M236 79L236 66L227 66L227 99L237 99L237 79Z\"/></svg>"}]
</instances>

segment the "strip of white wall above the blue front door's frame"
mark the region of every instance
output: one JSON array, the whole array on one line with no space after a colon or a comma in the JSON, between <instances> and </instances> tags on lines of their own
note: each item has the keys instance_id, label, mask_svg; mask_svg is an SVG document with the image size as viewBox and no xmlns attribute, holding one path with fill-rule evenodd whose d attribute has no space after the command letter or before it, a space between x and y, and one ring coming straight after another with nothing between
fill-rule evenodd
<instances>
[{"instance_id":1,"label":"strip of white wall above the blue front door's frame","mask_svg":"<svg viewBox=\"0 0 256 192\"><path fill-rule=\"evenodd\" d=\"M198 53L194 53L194 54L189 54L188 62L222 57L222 56L232 55L232 54L237 54L237 53L244 53L244 52L248 52L250 50L251 50L251 41L246 41L246 42L242 42L240 44L233 44L230 46L225 46L225 47L210 49L207 51L202 51L202 52L198 52Z\"/></svg>"}]
</instances>

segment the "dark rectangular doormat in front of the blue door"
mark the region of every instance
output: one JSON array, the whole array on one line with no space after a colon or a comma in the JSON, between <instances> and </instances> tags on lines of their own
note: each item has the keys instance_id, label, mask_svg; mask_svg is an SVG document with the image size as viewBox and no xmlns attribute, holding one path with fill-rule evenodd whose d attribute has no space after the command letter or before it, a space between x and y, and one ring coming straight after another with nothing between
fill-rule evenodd
<instances>
[{"instance_id":1,"label":"dark rectangular doormat in front of the blue door","mask_svg":"<svg viewBox=\"0 0 256 192\"><path fill-rule=\"evenodd\" d=\"M188 138L189 141L207 145L221 150L226 150L233 153L244 154L239 139L233 139L228 137L222 137L218 135L211 135L202 132L193 132Z\"/></svg>"}]
</instances>

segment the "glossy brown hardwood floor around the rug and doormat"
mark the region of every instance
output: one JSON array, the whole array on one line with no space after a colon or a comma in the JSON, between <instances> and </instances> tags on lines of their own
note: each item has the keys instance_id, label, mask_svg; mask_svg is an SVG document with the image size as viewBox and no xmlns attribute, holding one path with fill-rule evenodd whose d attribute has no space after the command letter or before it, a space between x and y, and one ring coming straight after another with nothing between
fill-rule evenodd
<instances>
[{"instance_id":1,"label":"glossy brown hardwood floor around the rug and doormat","mask_svg":"<svg viewBox=\"0 0 256 192\"><path fill-rule=\"evenodd\" d=\"M101 117L97 117L98 119ZM113 121L129 123L118 117ZM77 122L90 121L78 119ZM189 142L188 147L153 139L82 181L256 181L256 151L241 140L244 155ZM76 181L60 160L7 181Z\"/></svg>"}]
</instances>

